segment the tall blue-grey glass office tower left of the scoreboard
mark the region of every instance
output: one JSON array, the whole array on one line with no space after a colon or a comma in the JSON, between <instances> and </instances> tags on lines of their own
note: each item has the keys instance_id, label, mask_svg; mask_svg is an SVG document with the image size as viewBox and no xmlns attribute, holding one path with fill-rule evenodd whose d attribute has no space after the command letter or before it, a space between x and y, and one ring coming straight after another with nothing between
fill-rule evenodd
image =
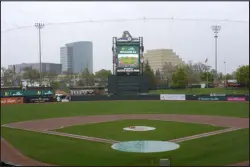
<instances>
[{"instance_id":1,"label":"tall blue-grey glass office tower left of the scoreboard","mask_svg":"<svg viewBox=\"0 0 250 167\"><path fill-rule=\"evenodd\" d=\"M89 41L68 43L60 48L62 72L81 73L88 68L93 73L93 44Z\"/></svg>"}]
</instances>

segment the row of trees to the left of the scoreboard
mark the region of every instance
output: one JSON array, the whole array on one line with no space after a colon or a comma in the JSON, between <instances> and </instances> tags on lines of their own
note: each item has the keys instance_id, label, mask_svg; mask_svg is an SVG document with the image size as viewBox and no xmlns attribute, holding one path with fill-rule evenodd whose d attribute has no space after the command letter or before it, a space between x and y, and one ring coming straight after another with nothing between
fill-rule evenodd
<instances>
[{"instance_id":1,"label":"row of trees to the left of the scoreboard","mask_svg":"<svg viewBox=\"0 0 250 167\"><path fill-rule=\"evenodd\" d=\"M42 85L52 85L53 87L58 87L60 84L67 84L68 86L93 86L96 85L106 85L108 76L111 75L110 70L101 69L97 72L90 73L86 68L79 74L73 74L66 72L63 75L57 75L56 73L40 72L32 67L23 68L22 72L16 73L14 69L6 69L1 67L1 81L4 86L21 86L22 80L27 81L31 85L34 83L39 83L40 75L42 76Z\"/></svg>"}]
</instances>

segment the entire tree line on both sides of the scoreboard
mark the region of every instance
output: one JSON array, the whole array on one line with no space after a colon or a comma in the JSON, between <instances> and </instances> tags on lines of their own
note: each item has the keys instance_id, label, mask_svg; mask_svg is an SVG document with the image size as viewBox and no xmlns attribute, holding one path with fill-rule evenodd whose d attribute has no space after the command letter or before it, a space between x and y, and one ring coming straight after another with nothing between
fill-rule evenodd
<instances>
[{"instance_id":1,"label":"entire tree line on both sides of the scoreboard","mask_svg":"<svg viewBox=\"0 0 250 167\"><path fill-rule=\"evenodd\" d=\"M36 69L26 67L22 73L16 73L14 69L1 67L1 80L4 86L20 85L21 80L29 83L39 82L40 73ZM86 68L79 74L66 72L60 77L55 73L42 73L43 81L51 85L57 85L60 82L67 83L69 86L105 86L108 83L110 70L101 69L95 73L90 73ZM152 70L148 61L144 64L144 74L150 78L151 87L167 85L170 87L185 88L190 84L213 83L215 77L217 80L236 79L239 83L249 86L249 65L240 66L236 71L228 74L216 73L214 69L203 63L188 62L174 66L171 63L164 63L162 69ZM17 86L17 85L16 85Z\"/></svg>"}]
</instances>

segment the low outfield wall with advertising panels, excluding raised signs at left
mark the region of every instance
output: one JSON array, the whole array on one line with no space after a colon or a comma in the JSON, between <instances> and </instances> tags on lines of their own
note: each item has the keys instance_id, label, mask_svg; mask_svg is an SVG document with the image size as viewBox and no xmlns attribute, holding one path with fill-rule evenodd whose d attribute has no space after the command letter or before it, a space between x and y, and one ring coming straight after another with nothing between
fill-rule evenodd
<instances>
[{"instance_id":1,"label":"low outfield wall with advertising panels, excluding raised signs at left","mask_svg":"<svg viewBox=\"0 0 250 167\"><path fill-rule=\"evenodd\" d=\"M140 95L78 95L71 96L70 101L110 101L110 100L168 100L168 101L249 101L249 94L140 94ZM1 97L1 104L69 102L58 101L52 96L18 96Z\"/></svg>"}]
</instances>

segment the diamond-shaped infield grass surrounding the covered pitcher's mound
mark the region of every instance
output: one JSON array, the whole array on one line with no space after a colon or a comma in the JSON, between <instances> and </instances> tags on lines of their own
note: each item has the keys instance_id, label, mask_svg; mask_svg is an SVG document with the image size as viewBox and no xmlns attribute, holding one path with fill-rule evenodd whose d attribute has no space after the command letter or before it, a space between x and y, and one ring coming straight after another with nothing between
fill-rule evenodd
<instances>
[{"instance_id":1,"label":"diamond-shaped infield grass surrounding the covered pitcher's mound","mask_svg":"<svg viewBox=\"0 0 250 167\"><path fill-rule=\"evenodd\" d=\"M129 126L150 126L155 130L144 132L125 131ZM56 131L99 137L117 141L160 140L166 141L200 133L225 129L211 125L156 120L120 120L104 123L70 126Z\"/></svg>"}]
</instances>

